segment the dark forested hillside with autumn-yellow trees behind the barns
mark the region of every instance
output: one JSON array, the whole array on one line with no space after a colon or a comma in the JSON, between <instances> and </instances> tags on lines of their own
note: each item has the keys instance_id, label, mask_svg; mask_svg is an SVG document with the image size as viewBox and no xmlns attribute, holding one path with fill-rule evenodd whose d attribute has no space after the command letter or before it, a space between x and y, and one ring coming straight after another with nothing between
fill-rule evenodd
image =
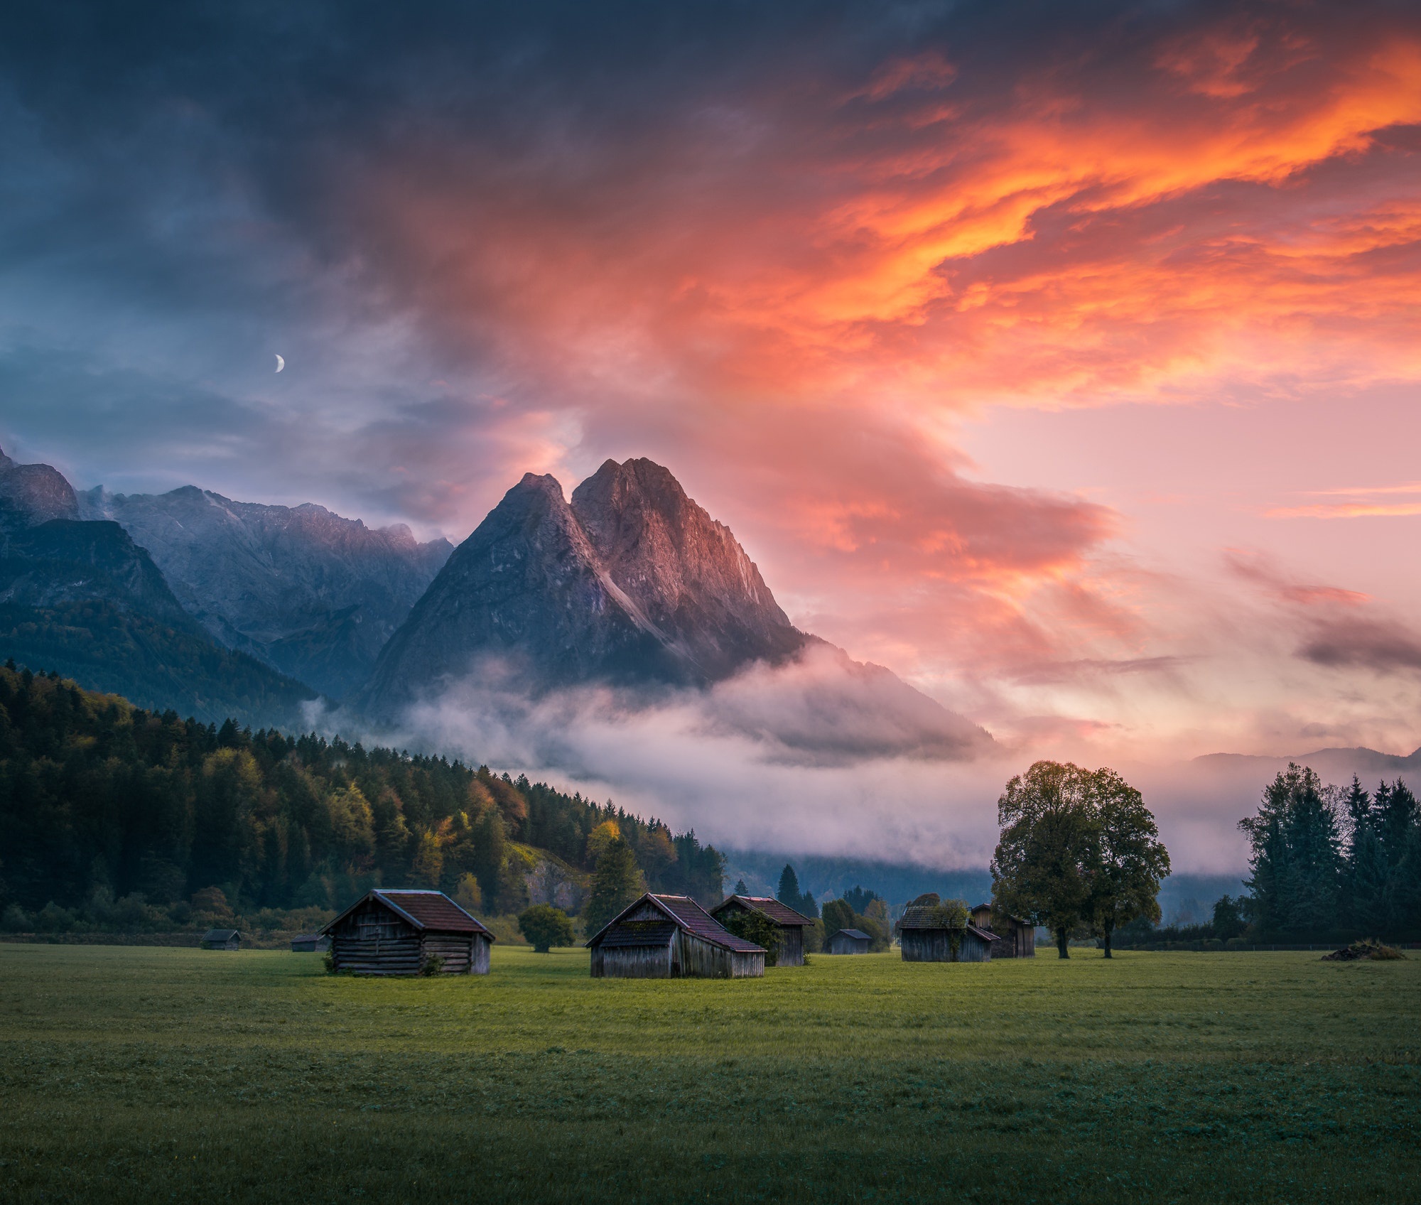
<instances>
[{"instance_id":1,"label":"dark forested hillside with autumn-yellow trees behind the barns","mask_svg":"<svg viewBox=\"0 0 1421 1205\"><path fill-rule=\"evenodd\" d=\"M713 847L610 801L442 757L203 725L0 668L0 909L11 928L43 928L34 914L51 902L53 925L64 909L159 924L193 905L334 908L375 884L441 887L513 912L529 899L514 843L577 874L610 831L649 887L719 898Z\"/></svg>"}]
</instances>

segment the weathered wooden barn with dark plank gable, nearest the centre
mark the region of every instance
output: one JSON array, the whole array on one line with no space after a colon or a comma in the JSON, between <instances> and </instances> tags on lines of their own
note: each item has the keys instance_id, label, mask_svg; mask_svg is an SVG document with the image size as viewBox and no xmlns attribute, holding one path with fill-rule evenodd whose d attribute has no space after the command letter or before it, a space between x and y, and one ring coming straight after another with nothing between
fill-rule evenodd
<instances>
[{"instance_id":1,"label":"weathered wooden barn with dark plank gable, nearest the centre","mask_svg":"<svg viewBox=\"0 0 1421 1205\"><path fill-rule=\"evenodd\" d=\"M746 979L764 975L764 951L737 938L689 895L649 891L590 942L593 978Z\"/></svg>"}]
</instances>

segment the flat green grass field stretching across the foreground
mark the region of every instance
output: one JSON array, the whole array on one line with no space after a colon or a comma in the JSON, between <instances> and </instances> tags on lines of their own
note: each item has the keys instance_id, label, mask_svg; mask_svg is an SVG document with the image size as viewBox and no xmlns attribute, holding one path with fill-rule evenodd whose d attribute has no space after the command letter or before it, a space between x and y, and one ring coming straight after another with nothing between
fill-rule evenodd
<instances>
[{"instance_id":1,"label":"flat green grass field stretching across the foreground","mask_svg":"<svg viewBox=\"0 0 1421 1205\"><path fill-rule=\"evenodd\" d=\"M1421 1199L1421 959L0 945L4 1201Z\"/></svg>"}]
</instances>

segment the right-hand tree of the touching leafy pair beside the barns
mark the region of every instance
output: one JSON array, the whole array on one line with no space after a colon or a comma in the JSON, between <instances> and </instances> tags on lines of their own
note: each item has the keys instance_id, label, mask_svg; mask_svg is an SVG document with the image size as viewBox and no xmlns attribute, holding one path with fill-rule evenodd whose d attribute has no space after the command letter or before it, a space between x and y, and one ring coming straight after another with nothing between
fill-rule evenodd
<instances>
[{"instance_id":1,"label":"right-hand tree of the touching leafy pair beside the barns","mask_svg":"<svg viewBox=\"0 0 1421 1205\"><path fill-rule=\"evenodd\" d=\"M1087 912L1110 958L1117 928L1137 917L1160 919L1157 897L1169 874L1169 854L1140 791L1120 774L1108 769L1084 773L1081 786L1090 818Z\"/></svg>"}]
</instances>

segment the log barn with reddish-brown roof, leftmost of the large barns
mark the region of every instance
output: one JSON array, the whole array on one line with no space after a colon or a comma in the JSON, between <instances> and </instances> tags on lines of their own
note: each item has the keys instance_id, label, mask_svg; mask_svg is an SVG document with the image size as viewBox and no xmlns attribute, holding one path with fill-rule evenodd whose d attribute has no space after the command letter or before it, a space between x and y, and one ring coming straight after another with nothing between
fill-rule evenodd
<instances>
[{"instance_id":1,"label":"log barn with reddish-brown roof, leftmost of the large barns","mask_svg":"<svg viewBox=\"0 0 1421 1205\"><path fill-rule=\"evenodd\" d=\"M375 888L331 921L337 971L419 975L443 959L442 975L487 975L493 934L442 891Z\"/></svg>"}]
</instances>

